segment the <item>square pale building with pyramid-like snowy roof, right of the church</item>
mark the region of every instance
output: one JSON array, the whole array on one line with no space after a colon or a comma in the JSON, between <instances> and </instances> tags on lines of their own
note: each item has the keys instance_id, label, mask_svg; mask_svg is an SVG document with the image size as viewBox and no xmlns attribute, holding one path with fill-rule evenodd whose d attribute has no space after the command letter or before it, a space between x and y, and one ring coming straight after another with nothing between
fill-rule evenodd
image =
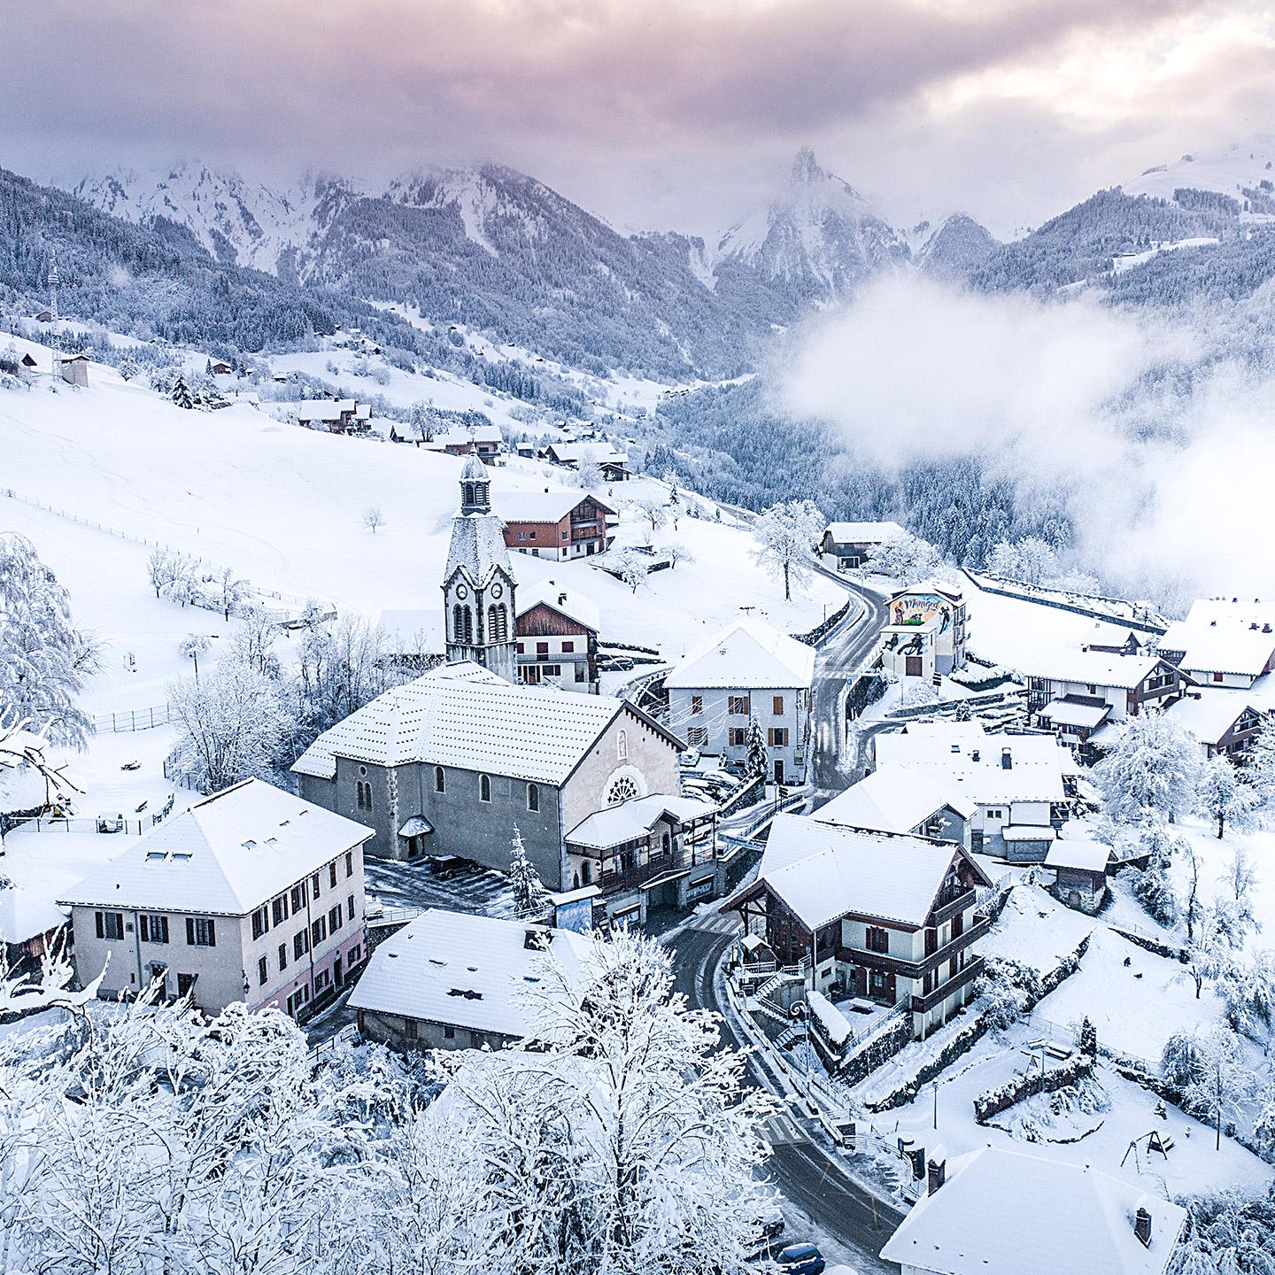
<instances>
[{"instance_id":1,"label":"square pale building with pyramid-like snowy roof, right of the church","mask_svg":"<svg viewBox=\"0 0 1275 1275\"><path fill-rule=\"evenodd\" d=\"M748 722L765 732L770 776L806 775L815 650L762 620L746 618L690 652L664 678L671 720L692 748L742 761Z\"/></svg>"}]
</instances>

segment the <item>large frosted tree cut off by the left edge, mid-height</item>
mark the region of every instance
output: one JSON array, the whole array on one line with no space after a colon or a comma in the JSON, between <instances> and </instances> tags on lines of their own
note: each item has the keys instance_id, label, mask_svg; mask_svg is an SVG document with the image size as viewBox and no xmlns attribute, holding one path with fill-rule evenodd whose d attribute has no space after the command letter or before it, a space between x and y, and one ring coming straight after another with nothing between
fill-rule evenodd
<instances>
[{"instance_id":1,"label":"large frosted tree cut off by the left edge, mid-height","mask_svg":"<svg viewBox=\"0 0 1275 1275\"><path fill-rule=\"evenodd\" d=\"M82 747L93 724L75 700L98 652L31 541L0 534L0 713L54 743Z\"/></svg>"}]
</instances>

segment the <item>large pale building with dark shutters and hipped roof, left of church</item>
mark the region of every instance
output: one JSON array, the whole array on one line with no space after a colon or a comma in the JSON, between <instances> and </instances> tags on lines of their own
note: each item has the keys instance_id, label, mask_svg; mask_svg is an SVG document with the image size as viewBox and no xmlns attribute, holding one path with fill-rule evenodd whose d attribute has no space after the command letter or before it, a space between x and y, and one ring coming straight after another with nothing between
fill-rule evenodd
<instances>
[{"instance_id":1,"label":"large pale building with dark shutters and hipped roof, left of church","mask_svg":"<svg viewBox=\"0 0 1275 1275\"><path fill-rule=\"evenodd\" d=\"M207 1014L232 1001L301 1016L367 951L371 829L249 779L134 841L60 901L75 973L101 996L158 980Z\"/></svg>"}]
</instances>

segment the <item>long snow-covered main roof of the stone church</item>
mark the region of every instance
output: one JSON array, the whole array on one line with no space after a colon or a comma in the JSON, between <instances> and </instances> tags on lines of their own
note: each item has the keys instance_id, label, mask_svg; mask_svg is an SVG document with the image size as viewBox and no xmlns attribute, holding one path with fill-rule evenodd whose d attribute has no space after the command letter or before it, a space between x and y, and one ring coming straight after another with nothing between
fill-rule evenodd
<instances>
[{"instance_id":1,"label":"long snow-covered main roof of the stone church","mask_svg":"<svg viewBox=\"0 0 1275 1275\"><path fill-rule=\"evenodd\" d=\"M349 757L382 766L421 761L557 785L620 713L652 724L608 695L515 686L486 669L470 677L470 668L477 666L444 666L379 695L324 731L293 773L333 779L337 757Z\"/></svg>"}]
</instances>

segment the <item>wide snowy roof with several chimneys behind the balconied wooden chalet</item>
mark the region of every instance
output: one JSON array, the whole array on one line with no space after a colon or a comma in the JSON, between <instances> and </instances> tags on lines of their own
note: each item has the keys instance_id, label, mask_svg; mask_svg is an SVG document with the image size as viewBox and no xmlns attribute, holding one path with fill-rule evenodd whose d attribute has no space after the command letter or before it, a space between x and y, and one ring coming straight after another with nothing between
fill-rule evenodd
<instances>
[{"instance_id":1,"label":"wide snowy roof with several chimneys behind the balconied wooden chalet","mask_svg":"<svg viewBox=\"0 0 1275 1275\"><path fill-rule=\"evenodd\" d=\"M898 762L926 770L979 806L1063 799L1062 776L1080 769L1066 745L1052 734L986 734L963 729L969 724L933 723L935 728L924 731L909 725L905 734L878 734L877 764Z\"/></svg>"}]
</instances>

